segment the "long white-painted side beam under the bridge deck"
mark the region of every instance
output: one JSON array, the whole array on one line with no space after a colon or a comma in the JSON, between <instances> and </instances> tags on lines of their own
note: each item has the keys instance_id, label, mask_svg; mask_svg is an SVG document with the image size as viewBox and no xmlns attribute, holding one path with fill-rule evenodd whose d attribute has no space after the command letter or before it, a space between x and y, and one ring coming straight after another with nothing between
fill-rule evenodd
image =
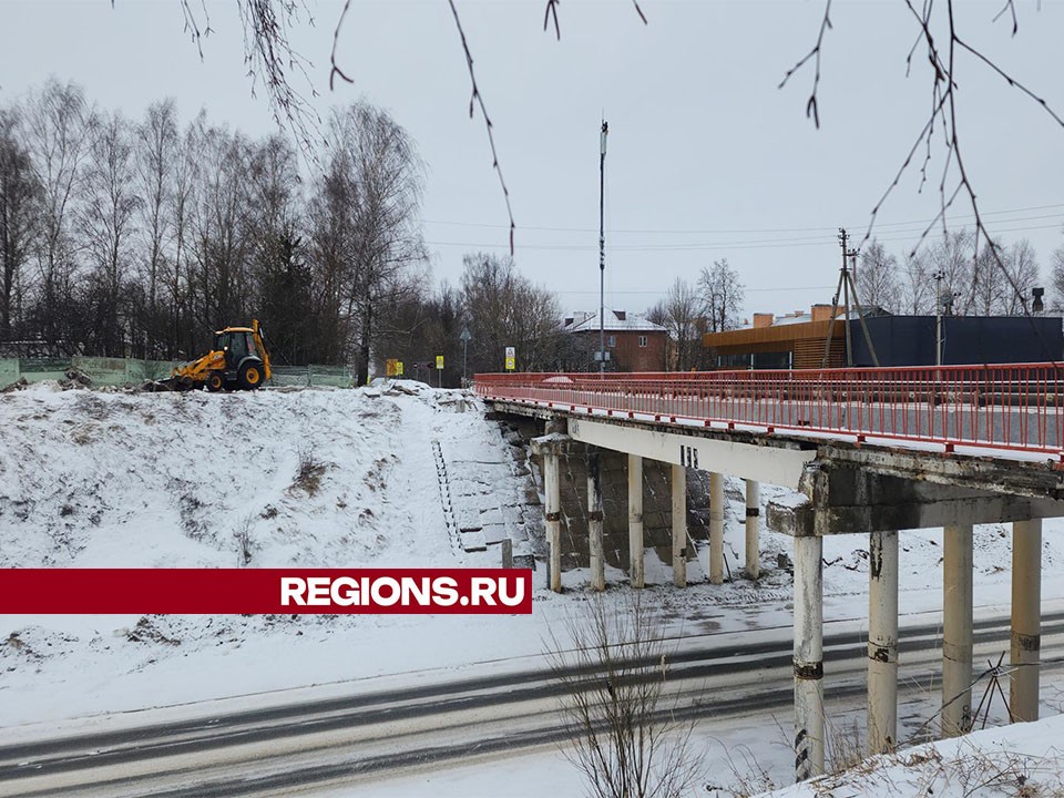
<instances>
[{"instance_id":1,"label":"long white-painted side beam under the bridge deck","mask_svg":"<svg viewBox=\"0 0 1064 798\"><path fill-rule=\"evenodd\" d=\"M620 423L569 419L569 434L583 443L703 471L798 489L806 463L816 450L766 447L628 427Z\"/></svg>"}]
</instances>

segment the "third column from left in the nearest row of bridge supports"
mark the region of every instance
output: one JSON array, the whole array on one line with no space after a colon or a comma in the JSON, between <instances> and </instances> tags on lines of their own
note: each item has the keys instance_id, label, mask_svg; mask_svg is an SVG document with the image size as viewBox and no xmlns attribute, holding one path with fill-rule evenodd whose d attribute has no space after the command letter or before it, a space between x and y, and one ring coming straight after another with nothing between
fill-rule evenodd
<instances>
[{"instance_id":1,"label":"third column from left in the nearest row of bridge supports","mask_svg":"<svg viewBox=\"0 0 1064 798\"><path fill-rule=\"evenodd\" d=\"M972 525L945 528L942 552L942 735L972 726Z\"/></svg>"}]
</instances>

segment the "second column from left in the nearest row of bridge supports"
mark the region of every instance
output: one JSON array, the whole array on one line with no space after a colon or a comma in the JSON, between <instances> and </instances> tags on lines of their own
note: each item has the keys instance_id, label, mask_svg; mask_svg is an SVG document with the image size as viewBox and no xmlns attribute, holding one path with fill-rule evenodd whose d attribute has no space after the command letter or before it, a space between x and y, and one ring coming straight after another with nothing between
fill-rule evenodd
<instances>
[{"instance_id":1,"label":"second column from left in the nearest row of bridge supports","mask_svg":"<svg viewBox=\"0 0 1064 798\"><path fill-rule=\"evenodd\" d=\"M868 753L898 743L898 533L868 543Z\"/></svg>"}]
</instances>

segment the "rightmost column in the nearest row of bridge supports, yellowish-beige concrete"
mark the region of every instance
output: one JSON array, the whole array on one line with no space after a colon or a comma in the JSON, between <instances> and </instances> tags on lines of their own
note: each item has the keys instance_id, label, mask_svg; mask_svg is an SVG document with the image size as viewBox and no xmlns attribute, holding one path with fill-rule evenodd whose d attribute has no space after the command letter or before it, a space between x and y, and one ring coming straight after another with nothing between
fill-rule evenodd
<instances>
[{"instance_id":1,"label":"rightmost column in the nearest row of bridge supports, yellowish-beige concrete","mask_svg":"<svg viewBox=\"0 0 1064 798\"><path fill-rule=\"evenodd\" d=\"M1042 521L1012 524L1012 674L1009 713L1013 722L1039 719L1042 655Z\"/></svg>"}]
</instances>

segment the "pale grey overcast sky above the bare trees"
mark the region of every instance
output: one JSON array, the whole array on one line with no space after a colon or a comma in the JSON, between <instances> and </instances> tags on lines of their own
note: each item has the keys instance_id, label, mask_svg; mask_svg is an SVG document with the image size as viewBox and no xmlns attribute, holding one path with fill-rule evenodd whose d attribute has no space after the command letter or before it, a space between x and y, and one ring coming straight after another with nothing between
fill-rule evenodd
<instances>
[{"instance_id":1,"label":"pale grey overcast sky above the bare trees","mask_svg":"<svg viewBox=\"0 0 1064 798\"><path fill-rule=\"evenodd\" d=\"M198 2L198 0L195 0ZM918 6L920 3L917 3ZM944 4L944 3L943 3ZM826 38L819 131L805 117L812 71L777 84L816 40L822 3L560 3L561 41L543 32L545 0L462 2L459 10L518 223L516 262L566 309L598 304L598 129L606 156L606 304L644 310L676 276L726 257L747 286L746 313L828 301L837 228L863 235L930 106L929 73L903 0L837 0ZM1056 109L1064 109L1064 3L1017 2L1020 32L992 23L1001 0L965 0L962 31ZM180 0L0 0L0 102L50 75L104 108L140 116L173 96L253 135L274 129L250 94L232 0L206 1L204 59ZM428 165L424 235L434 279L457 282L467 252L508 252L505 206L446 0L354 0L338 59L354 85L328 89L341 2L308 0L293 31L330 104L364 96L388 109ZM1027 237L1043 274L1064 243L1064 130L972 58L960 58L961 133L982 209L1001 238ZM932 164L942 164L937 152ZM899 255L938 209L938 178L912 172L877 235ZM962 207L954 224L968 221ZM1046 278L1044 278L1046 279Z\"/></svg>"}]
</instances>

